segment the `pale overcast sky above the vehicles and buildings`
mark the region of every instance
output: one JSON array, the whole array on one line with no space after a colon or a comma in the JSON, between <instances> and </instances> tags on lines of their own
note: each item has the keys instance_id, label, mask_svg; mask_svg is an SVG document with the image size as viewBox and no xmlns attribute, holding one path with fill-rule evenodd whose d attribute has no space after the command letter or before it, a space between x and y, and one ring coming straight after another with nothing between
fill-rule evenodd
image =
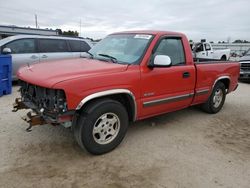
<instances>
[{"instance_id":1,"label":"pale overcast sky above the vehicles and buildings","mask_svg":"<svg viewBox=\"0 0 250 188\"><path fill-rule=\"evenodd\" d=\"M1 0L3 1L3 0ZM189 39L250 40L249 0L8 0L0 3L0 25L80 31L102 38L123 30L169 30Z\"/></svg>"}]
</instances>

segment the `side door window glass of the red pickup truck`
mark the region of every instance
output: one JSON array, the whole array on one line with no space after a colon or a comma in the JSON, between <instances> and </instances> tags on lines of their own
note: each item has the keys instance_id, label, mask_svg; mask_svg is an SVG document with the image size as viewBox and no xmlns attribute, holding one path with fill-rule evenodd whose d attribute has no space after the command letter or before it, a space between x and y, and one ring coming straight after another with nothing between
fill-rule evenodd
<instances>
[{"instance_id":1,"label":"side door window glass of the red pickup truck","mask_svg":"<svg viewBox=\"0 0 250 188\"><path fill-rule=\"evenodd\" d=\"M171 58L172 65L185 64L185 54L181 39L162 39L155 51L155 55L167 55Z\"/></svg>"}]
</instances>

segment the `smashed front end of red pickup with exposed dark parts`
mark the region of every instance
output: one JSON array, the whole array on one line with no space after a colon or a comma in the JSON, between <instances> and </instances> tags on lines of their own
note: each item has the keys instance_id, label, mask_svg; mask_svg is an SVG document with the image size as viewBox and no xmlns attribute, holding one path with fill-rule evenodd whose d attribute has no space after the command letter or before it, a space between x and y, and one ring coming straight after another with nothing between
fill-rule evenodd
<instances>
[{"instance_id":1,"label":"smashed front end of red pickup with exposed dark parts","mask_svg":"<svg viewBox=\"0 0 250 188\"><path fill-rule=\"evenodd\" d=\"M68 110L63 90L44 88L24 81L19 81L19 85L21 97L16 98L12 111L31 110L22 118L29 124L27 131L31 131L32 126L44 124L71 126L74 111Z\"/></svg>"}]
</instances>

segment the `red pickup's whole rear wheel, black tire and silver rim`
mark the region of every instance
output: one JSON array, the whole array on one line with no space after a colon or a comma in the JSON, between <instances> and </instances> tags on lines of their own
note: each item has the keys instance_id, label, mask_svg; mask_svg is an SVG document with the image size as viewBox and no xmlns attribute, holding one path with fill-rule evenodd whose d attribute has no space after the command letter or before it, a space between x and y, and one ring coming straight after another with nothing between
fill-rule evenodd
<instances>
[{"instance_id":1,"label":"red pickup's whole rear wheel, black tire and silver rim","mask_svg":"<svg viewBox=\"0 0 250 188\"><path fill-rule=\"evenodd\" d=\"M224 105L226 99L226 87L222 82L218 82L208 98L207 102L202 104L203 111L215 114L219 112Z\"/></svg>"}]
</instances>

